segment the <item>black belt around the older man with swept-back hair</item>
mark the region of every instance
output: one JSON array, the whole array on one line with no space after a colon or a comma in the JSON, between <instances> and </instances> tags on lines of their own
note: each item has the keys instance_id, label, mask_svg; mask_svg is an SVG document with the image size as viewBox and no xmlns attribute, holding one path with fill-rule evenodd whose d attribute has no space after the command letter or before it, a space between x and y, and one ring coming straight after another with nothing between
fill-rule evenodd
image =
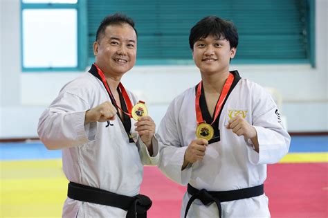
<instances>
[{"instance_id":1,"label":"black belt around the older man with swept-back hair","mask_svg":"<svg viewBox=\"0 0 328 218\"><path fill-rule=\"evenodd\" d=\"M127 210L127 218L146 218L147 210L152 206L152 200L142 194L129 197L73 182L69 182L67 196L78 201L98 203Z\"/></svg>"}]
</instances>

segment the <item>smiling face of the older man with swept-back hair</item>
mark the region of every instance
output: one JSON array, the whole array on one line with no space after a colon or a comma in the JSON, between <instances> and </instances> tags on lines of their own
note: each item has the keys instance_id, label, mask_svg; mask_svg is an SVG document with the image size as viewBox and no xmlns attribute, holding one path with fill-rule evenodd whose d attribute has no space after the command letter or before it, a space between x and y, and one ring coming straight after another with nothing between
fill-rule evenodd
<instances>
[{"instance_id":1,"label":"smiling face of the older man with swept-back hair","mask_svg":"<svg viewBox=\"0 0 328 218\"><path fill-rule=\"evenodd\" d=\"M122 77L136 63L136 46L136 32L129 24L109 25L93 44L95 64L106 76Z\"/></svg>"}]
</instances>

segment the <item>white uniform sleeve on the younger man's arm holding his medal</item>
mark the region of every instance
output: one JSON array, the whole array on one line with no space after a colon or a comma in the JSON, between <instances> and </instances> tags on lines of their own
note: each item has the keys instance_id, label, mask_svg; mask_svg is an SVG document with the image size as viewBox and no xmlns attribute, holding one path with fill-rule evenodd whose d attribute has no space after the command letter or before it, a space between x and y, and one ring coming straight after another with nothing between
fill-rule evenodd
<instances>
[{"instance_id":1,"label":"white uniform sleeve on the younger man's arm holding his medal","mask_svg":"<svg viewBox=\"0 0 328 218\"><path fill-rule=\"evenodd\" d=\"M159 145L159 169L170 179L181 185L190 181L192 165L181 170L187 147L181 147L181 129L174 102L170 104L156 134Z\"/></svg>"}]
</instances>

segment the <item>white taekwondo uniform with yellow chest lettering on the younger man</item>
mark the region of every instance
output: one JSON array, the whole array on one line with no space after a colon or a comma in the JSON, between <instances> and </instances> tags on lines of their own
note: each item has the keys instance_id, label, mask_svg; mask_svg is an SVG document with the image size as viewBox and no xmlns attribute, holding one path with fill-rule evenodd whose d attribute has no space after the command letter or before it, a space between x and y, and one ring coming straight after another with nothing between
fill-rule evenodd
<instances>
[{"instance_id":1,"label":"white taekwondo uniform with yellow chest lettering on the younger man","mask_svg":"<svg viewBox=\"0 0 328 218\"><path fill-rule=\"evenodd\" d=\"M227 191L250 188L264 183L266 164L277 163L289 150L290 136L282 127L275 102L265 89L255 82L242 79L237 71L232 87L219 114L221 140L210 143L202 161L188 165L181 171L185 150L196 139L197 118L195 87L174 98L158 127L160 161L158 167L170 179L198 190ZM207 109L207 107L206 107ZM202 109L203 113L203 109ZM257 131L259 153L250 140L237 136L227 129L228 120L241 114ZM214 127L214 128L217 128ZM277 190L282 191L282 190ZM181 217L190 194L185 193ZM221 203L222 217L270 217L268 198L265 194L237 201ZM188 217L219 217L217 205L204 206L196 199Z\"/></svg>"}]
</instances>

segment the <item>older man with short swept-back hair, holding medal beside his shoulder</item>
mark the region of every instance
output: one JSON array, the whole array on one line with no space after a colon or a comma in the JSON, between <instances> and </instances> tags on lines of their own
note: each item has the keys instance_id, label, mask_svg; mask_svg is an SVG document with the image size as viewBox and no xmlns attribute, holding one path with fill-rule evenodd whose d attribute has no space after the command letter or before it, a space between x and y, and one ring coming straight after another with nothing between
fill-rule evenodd
<instances>
[{"instance_id":1,"label":"older man with short swept-back hair, holding medal beside his shoulder","mask_svg":"<svg viewBox=\"0 0 328 218\"><path fill-rule=\"evenodd\" d=\"M134 21L105 17L93 44L95 64L66 84L39 118L39 137L48 149L62 149L70 181L62 217L135 217L152 204L138 193L143 164L158 161L155 124L134 114L136 96L120 83L136 62L136 48ZM139 115L144 106L139 102Z\"/></svg>"}]
</instances>

